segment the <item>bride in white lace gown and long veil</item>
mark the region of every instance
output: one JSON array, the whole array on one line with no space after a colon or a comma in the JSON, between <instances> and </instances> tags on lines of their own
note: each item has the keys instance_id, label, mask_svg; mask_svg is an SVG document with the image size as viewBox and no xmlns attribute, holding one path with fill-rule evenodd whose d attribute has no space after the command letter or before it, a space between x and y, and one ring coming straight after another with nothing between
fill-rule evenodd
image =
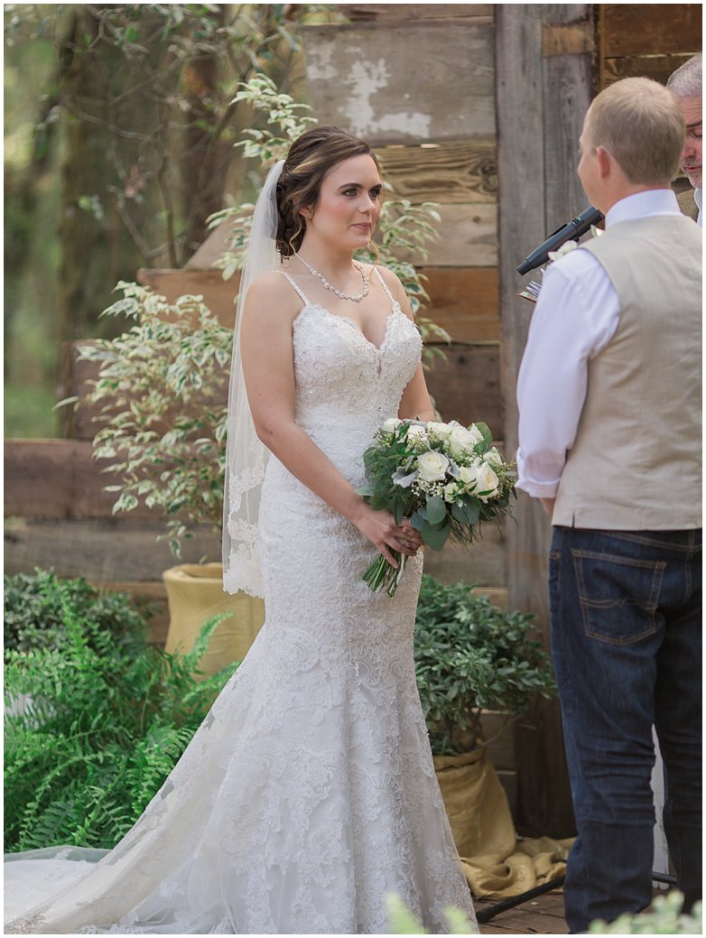
<instances>
[{"instance_id":1,"label":"bride in white lace gown and long veil","mask_svg":"<svg viewBox=\"0 0 706 938\"><path fill-rule=\"evenodd\" d=\"M224 585L266 622L110 852L6 857L6 932L382 933L395 893L473 917L416 690L422 557L356 493L389 416L433 418L397 277L353 260L380 215L368 144L308 130L270 171L241 284ZM362 575L409 560L397 593Z\"/></svg>"}]
</instances>

